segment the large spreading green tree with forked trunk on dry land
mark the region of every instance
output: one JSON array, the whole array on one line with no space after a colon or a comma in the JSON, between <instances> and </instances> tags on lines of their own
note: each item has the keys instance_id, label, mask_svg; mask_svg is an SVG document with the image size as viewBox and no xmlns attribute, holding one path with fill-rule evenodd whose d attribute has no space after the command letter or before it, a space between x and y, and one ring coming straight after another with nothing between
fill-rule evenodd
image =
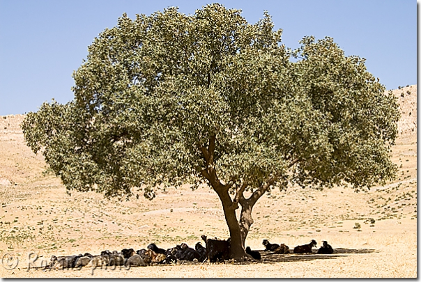
<instances>
[{"instance_id":1,"label":"large spreading green tree with forked trunk on dry land","mask_svg":"<svg viewBox=\"0 0 421 282\"><path fill-rule=\"evenodd\" d=\"M243 260L252 208L275 187L395 178L395 97L332 38L281 44L220 4L123 15L74 72L75 100L44 103L22 129L68 191L127 197L203 182L219 196L231 257ZM240 214L236 210L240 208Z\"/></svg>"}]
</instances>

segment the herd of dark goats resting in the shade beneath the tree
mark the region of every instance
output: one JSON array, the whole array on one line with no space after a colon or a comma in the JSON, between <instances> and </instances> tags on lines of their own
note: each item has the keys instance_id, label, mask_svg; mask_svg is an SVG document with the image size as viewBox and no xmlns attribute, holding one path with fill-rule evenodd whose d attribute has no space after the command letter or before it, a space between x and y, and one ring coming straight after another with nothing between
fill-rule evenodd
<instances>
[{"instance_id":1,"label":"herd of dark goats resting in the shade beneath the tree","mask_svg":"<svg viewBox=\"0 0 421 282\"><path fill-rule=\"evenodd\" d=\"M102 251L99 256L93 256L90 253L75 256L52 256L48 268L64 269L77 267L102 267L102 266L145 266L152 263L177 263L178 261L188 260L204 263L206 260L211 263L223 262L229 260L230 239L217 240L208 239L205 235L201 236L205 242L202 246L198 242L194 249L187 244L179 244L174 248L161 249L155 243L149 244L147 249L122 249L118 251ZM312 240L309 244L296 246L293 251L285 244L270 244L268 240L263 240L266 247L264 251L273 253L312 253L313 246L317 242ZM246 253L252 256L254 260L261 260L259 251L253 251L247 246ZM330 254L333 253L332 246L327 241L323 241L323 246L317 253Z\"/></svg>"}]
</instances>

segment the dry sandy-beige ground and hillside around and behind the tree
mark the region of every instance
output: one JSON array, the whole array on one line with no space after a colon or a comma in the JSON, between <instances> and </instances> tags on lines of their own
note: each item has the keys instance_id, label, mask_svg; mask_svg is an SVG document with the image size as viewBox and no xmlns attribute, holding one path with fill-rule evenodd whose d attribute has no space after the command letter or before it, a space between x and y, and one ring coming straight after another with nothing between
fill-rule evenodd
<instances>
[{"instance_id":1,"label":"dry sandy-beige ground and hillside around and behind the tree","mask_svg":"<svg viewBox=\"0 0 421 282\"><path fill-rule=\"evenodd\" d=\"M26 269L29 253L52 255L193 246L200 235L228 237L216 194L208 187L160 192L144 198L108 201L100 194L72 193L51 173L43 157L25 146L24 116L0 116L0 259L11 254L15 269L2 277L416 277L417 276L417 86L394 91L402 118L392 160L399 178L367 193L336 187L316 191L291 187L263 196L254 207L247 246L262 250L263 239L292 249L322 240L332 255L268 255L260 263L155 265L132 269ZM374 219L371 224L369 219ZM355 224L361 228L354 228ZM6 258L5 257L5 258ZM0 261L1 263L1 261Z\"/></svg>"}]
</instances>

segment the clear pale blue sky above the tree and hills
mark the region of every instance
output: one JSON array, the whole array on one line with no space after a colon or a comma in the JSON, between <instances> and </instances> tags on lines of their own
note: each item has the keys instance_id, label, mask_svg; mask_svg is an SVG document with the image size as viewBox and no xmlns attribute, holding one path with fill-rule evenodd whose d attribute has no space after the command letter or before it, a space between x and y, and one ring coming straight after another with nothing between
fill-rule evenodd
<instances>
[{"instance_id":1,"label":"clear pale blue sky above the tree and hills","mask_svg":"<svg viewBox=\"0 0 421 282\"><path fill-rule=\"evenodd\" d=\"M134 19L178 6L193 14L215 2L243 10L253 24L268 10L286 47L303 36L334 38L347 56L366 58L388 89L417 83L415 0L0 0L0 116L72 100L72 72L123 13Z\"/></svg>"}]
</instances>

